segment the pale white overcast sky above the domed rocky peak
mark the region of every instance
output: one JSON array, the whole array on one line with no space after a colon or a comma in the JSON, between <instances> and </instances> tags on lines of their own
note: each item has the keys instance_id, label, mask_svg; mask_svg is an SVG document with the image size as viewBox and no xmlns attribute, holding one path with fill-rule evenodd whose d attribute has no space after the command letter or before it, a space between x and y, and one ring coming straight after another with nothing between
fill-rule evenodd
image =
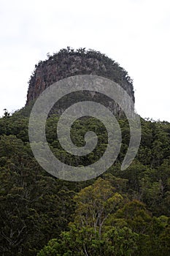
<instances>
[{"instance_id":1,"label":"pale white overcast sky above the domed rocky peak","mask_svg":"<svg viewBox=\"0 0 170 256\"><path fill-rule=\"evenodd\" d=\"M0 0L0 116L22 108L34 65L61 48L106 53L134 79L142 117L170 121L169 0Z\"/></svg>"}]
</instances>

